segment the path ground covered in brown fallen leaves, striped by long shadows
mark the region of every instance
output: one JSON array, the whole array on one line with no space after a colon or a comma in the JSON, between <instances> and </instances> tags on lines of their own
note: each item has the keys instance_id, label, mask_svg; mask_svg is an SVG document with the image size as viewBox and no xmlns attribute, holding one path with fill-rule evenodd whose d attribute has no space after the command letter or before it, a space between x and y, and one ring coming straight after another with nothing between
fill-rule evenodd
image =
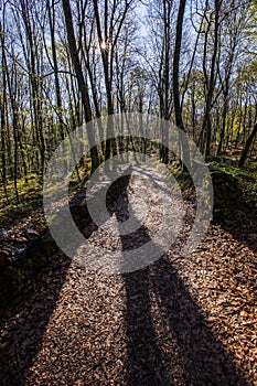
<instances>
[{"instance_id":1,"label":"path ground covered in brown fallen leaves, striped by long shadows","mask_svg":"<svg viewBox=\"0 0 257 386\"><path fill-rule=\"evenodd\" d=\"M126 217L135 192L152 200L148 232L125 240L89 225L92 243L129 249L153 237L161 197L144 178L132 174L110 212ZM26 282L0 311L0 385L257 385L256 210L210 225L185 258L193 190L181 200L183 227L154 264L106 275L58 251Z\"/></svg>"}]
</instances>

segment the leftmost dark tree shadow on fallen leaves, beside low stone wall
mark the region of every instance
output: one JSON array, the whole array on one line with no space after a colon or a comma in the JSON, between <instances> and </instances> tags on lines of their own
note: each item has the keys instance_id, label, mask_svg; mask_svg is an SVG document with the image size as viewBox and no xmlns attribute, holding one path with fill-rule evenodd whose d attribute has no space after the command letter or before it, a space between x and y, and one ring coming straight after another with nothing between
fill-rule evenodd
<instances>
[{"instance_id":1,"label":"leftmost dark tree shadow on fallen leaves, beside low stone wall","mask_svg":"<svg viewBox=\"0 0 257 386\"><path fill-rule=\"evenodd\" d=\"M57 253L29 280L9 309L0 311L0 385L25 385L47 323L66 280L71 259Z\"/></svg>"}]
</instances>

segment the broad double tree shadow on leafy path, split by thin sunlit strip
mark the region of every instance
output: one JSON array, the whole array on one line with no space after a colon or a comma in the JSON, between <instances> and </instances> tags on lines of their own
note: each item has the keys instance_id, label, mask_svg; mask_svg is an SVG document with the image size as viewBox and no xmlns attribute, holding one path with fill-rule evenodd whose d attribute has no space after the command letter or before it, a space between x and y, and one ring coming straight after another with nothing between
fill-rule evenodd
<instances>
[{"instance_id":1,"label":"broad double tree shadow on leafy path, split by thin sunlit strip","mask_svg":"<svg viewBox=\"0 0 257 386\"><path fill-rule=\"evenodd\" d=\"M128 183L129 178L124 178L124 205L113 211L118 222L129 216ZM119 206L127 207L127 213L119 213ZM143 225L120 238L124 250L151 239ZM122 277L128 386L247 385L167 257Z\"/></svg>"}]
</instances>

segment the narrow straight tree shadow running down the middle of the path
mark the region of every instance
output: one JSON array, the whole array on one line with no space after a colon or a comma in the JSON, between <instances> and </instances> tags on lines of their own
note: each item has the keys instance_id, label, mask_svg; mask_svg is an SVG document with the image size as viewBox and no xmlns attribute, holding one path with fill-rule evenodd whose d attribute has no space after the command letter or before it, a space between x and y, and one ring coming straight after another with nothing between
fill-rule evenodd
<instances>
[{"instance_id":1,"label":"narrow straight tree shadow running down the middle of the path","mask_svg":"<svg viewBox=\"0 0 257 386\"><path fill-rule=\"evenodd\" d=\"M126 171L128 173L128 170ZM130 175L120 178L111 185L110 195L115 196L117 184L120 195L119 205L109 208L110 215L115 214L118 223L122 223L133 213L128 212L127 186ZM114 194L111 194L111 191ZM122 202L121 202L122 201ZM120 212L119 208L122 208ZM124 211L124 208L126 208ZM133 218L137 221L137 218ZM122 250L138 248L151 240L149 230L141 225L138 230L120 236ZM169 385L169 377L163 358L158 345L158 335L151 314L151 300L149 288L149 268L136 271L131 275L122 275L126 289L125 324L127 330L127 385Z\"/></svg>"}]
</instances>

